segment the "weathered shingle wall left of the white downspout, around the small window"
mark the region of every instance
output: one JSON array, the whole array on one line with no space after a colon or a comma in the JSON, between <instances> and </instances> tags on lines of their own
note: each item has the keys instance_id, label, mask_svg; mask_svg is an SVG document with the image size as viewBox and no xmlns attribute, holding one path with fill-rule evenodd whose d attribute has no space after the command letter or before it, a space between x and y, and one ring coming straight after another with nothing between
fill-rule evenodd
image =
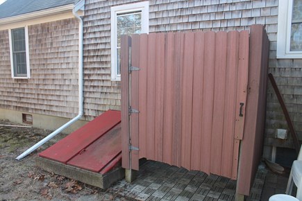
<instances>
[{"instance_id":1,"label":"weathered shingle wall left of the white downspout, around the small window","mask_svg":"<svg viewBox=\"0 0 302 201\"><path fill-rule=\"evenodd\" d=\"M0 107L72 118L78 113L78 21L28 26L30 79L12 79L8 30L0 33Z\"/></svg>"}]
</instances>

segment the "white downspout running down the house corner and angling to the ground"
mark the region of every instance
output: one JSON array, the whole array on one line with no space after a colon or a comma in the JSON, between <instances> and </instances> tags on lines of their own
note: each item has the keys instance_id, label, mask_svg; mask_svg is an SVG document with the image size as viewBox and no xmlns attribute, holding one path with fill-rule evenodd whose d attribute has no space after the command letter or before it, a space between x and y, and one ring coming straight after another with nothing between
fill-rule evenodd
<instances>
[{"instance_id":1,"label":"white downspout running down the house corner and angling to the ground","mask_svg":"<svg viewBox=\"0 0 302 201\"><path fill-rule=\"evenodd\" d=\"M85 3L85 1L79 2L79 3ZM74 9L72 10L74 17L78 19L78 115L74 117L74 119L68 121L64 125L62 125L60 128L49 134L47 137L36 143L31 148L28 148L25 152L23 152L21 155L19 155L16 159L20 160L29 155L31 152L42 146L44 143L49 141L49 139L53 138L61 132L62 130L65 130L65 128L69 127L69 125L72 125L72 123L78 121L78 119L81 119L83 115L83 20L80 16L76 13L80 8L78 6L74 6Z\"/></svg>"}]
</instances>

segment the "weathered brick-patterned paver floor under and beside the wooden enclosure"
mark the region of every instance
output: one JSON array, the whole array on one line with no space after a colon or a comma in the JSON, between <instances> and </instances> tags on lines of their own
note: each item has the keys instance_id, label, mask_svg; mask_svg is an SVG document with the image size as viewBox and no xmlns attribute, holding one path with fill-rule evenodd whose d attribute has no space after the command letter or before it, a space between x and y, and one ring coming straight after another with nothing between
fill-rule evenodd
<instances>
[{"instance_id":1,"label":"weathered brick-patterned paver floor under and beside the wooden enclosure","mask_svg":"<svg viewBox=\"0 0 302 201\"><path fill-rule=\"evenodd\" d=\"M265 186L265 183L268 186ZM251 195L246 200L268 200L270 195L284 193L286 184L287 177L270 173L261 164L253 182ZM140 166L137 179L132 184L121 180L108 191L115 191L134 200L222 201L235 200L235 190L236 181L226 177L187 171L185 168L169 166L157 161L146 161Z\"/></svg>"}]
</instances>

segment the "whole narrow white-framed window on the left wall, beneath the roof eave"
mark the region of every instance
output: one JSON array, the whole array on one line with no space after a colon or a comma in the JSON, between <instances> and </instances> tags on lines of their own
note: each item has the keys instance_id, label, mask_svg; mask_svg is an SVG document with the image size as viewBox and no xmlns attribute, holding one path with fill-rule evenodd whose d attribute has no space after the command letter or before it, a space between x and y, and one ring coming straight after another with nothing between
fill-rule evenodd
<instances>
[{"instance_id":1,"label":"whole narrow white-framed window on the left wall, beneath the roof eave","mask_svg":"<svg viewBox=\"0 0 302 201\"><path fill-rule=\"evenodd\" d=\"M8 31L12 78L29 78L28 28L25 26Z\"/></svg>"}]
</instances>

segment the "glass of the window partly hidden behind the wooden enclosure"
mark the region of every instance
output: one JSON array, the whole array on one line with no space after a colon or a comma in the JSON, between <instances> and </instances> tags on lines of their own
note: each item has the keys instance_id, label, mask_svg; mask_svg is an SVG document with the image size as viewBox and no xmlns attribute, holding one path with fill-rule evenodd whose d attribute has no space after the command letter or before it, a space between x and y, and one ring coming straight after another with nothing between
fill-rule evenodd
<instances>
[{"instance_id":1,"label":"glass of the window partly hidden behind the wooden enclosure","mask_svg":"<svg viewBox=\"0 0 302 201\"><path fill-rule=\"evenodd\" d=\"M142 12L117 15L117 75L121 74L121 35L142 33Z\"/></svg>"}]
</instances>

